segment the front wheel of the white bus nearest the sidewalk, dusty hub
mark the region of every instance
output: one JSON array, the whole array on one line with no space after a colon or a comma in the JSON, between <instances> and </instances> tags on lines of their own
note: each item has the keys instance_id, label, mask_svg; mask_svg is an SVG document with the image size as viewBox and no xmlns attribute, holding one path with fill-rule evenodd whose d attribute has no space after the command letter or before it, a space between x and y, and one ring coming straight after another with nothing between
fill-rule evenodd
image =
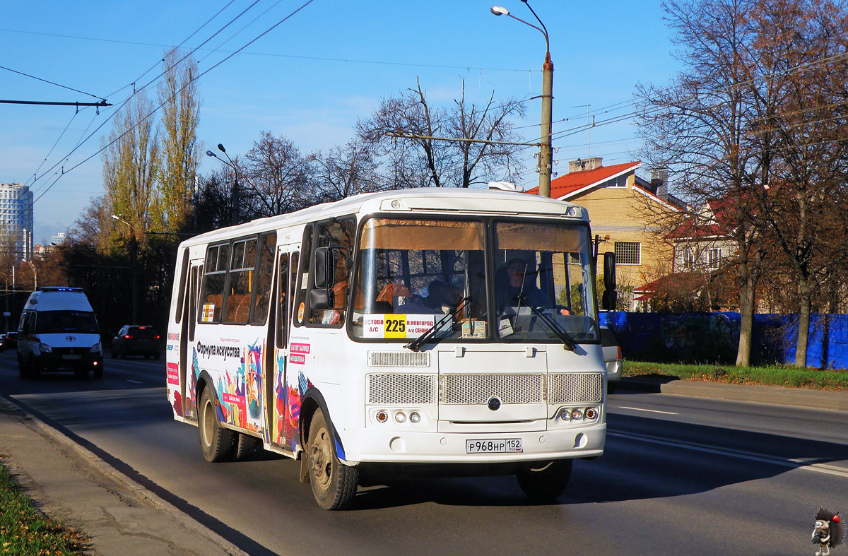
<instances>
[{"instance_id":1,"label":"front wheel of the white bus nearest the sidewalk, dusty hub","mask_svg":"<svg viewBox=\"0 0 848 556\"><path fill-rule=\"evenodd\" d=\"M322 509L347 509L354 501L360 472L336 456L332 432L324 412L315 410L304 458L309 458L310 484L315 502Z\"/></svg>"}]
</instances>

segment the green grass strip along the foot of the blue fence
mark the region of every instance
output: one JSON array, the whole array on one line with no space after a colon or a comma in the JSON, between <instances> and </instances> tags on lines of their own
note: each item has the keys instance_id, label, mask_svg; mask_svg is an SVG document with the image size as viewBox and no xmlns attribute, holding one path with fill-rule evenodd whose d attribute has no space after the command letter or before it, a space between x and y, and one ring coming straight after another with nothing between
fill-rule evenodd
<instances>
[{"instance_id":1,"label":"green grass strip along the foot of the blue fence","mask_svg":"<svg viewBox=\"0 0 848 556\"><path fill-rule=\"evenodd\" d=\"M762 384L811 390L848 390L848 370L811 369L789 365L734 367L717 364L648 363L624 361L624 376L687 381Z\"/></svg>"}]
</instances>

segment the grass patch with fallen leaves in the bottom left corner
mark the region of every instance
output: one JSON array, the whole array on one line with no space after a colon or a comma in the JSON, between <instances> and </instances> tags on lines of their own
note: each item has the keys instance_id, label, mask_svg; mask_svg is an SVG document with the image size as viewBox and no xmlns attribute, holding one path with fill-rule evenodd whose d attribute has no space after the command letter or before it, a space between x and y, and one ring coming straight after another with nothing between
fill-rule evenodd
<instances>
[{"instance_id":1,"label":"grass patch with fallen leaves in the bottom left corner","mask_svg":"<svg viewBox=\"0 0 848 556\"><path fill-rule=\"evenodd\" d=\"M0 464L0 555L81 554L86 537L39 512Z\"/></svg>"}]
</instances>

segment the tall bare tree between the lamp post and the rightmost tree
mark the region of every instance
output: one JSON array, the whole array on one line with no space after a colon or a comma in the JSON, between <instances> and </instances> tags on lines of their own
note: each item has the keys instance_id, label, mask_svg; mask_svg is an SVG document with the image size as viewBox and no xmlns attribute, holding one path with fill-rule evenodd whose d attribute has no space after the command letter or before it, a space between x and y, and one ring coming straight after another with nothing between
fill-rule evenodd
<instances>
[{"instance_id":1,"label":"tall bare tree between the lamp post and the rightmost tree","mask_svg":"<svg viewBox=\"0 0 848 556\"><path fill-rule=\"evenodd\" d=\"M672 86L639 86L645 158L678 175L678 189L700 205L721 198L736 247L742 315L736 364L750 363L756 282L762 259L761 198L770 181L768 145L751 139L758 116L750 25L755 0L664 3L684 69ZM693 225L698 225L695 221Z\"/></svg>"}]
</instances>

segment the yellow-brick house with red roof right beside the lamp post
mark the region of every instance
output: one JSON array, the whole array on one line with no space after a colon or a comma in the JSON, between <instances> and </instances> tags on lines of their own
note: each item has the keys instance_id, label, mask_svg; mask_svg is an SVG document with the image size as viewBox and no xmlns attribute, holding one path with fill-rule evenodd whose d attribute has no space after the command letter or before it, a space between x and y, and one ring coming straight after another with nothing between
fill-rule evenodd
<instances>
[{"instance_id":1,"label":"yellow-brick house with red roof right beside the lamp post","mask_svg":"<svg viewBox=\"0 0 848 556\"><path fill-rule=\"evenodd\" d=\"M685 203L668 194L667 175L650 181L636 175L639 161L605 166L600 157L569 163L566 175L550 182L550 196L589 210L599 253L616 253L620 295L672 271L674 250L651 222L663 212L680 212ZM537 193L538 187L528 191ZM635 306L632 306L635 309Z\"/></svg>"}]
</instances>

